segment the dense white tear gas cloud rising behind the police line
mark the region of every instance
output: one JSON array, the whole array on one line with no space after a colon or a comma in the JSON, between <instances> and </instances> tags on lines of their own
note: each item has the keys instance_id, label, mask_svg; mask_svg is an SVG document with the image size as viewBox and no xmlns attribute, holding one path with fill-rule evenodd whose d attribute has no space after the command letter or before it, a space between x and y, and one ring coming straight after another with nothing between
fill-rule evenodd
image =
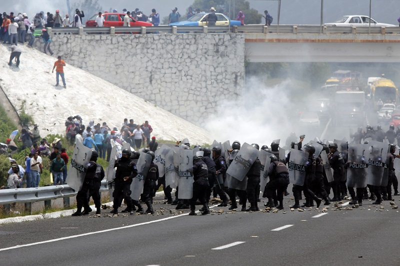
<instances>
[{"instance_id":1,"label":"dense white tear gas cloud rising behind the police line","mask_svg":"<svg viewBox=\"0 0 400 266\"><path fill-rule=\"evenodd\" d=\"M238 140L269 147L272 140L280 138L284 143L293 130L290 117L296 105L289 95L290 83L287 80L266 87L256 78L250 78L238 99L218 104L217 112L208 118L206 129L217 141Z\"/></svg>"}]
</instances>

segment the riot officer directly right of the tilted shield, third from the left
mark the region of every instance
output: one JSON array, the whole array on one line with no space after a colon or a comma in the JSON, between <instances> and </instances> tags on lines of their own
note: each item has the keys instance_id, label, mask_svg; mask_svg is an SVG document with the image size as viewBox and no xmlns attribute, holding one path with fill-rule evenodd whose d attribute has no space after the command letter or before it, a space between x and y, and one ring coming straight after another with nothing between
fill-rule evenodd
<instances>
[{"instance_id":1,"label":"riot officer directly right of the tilted shield, third from the left","mask_svg":"<svg viewBox=\"0 0 400 266\"><path fill-rule=\"evenodd\" d=\"M153 191L155 188L155 181L159 178L159 173L158 173L158 166L154 163L154 152L148 151L147 154L151 155L151 163L150 163L150 168L148 170L146 179L144 180L143 184L143 199L144 203L147 206L147 210L144 212L145 214L154 214L154 210L152 207L152 196L153 196Z\"/></svg>"}]
</instances>

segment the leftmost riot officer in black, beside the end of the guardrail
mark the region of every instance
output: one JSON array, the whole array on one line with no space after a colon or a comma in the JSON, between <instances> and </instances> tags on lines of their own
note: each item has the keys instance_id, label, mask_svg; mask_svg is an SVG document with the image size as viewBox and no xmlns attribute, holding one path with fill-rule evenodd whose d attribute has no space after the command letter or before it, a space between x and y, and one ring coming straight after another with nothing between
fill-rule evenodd
<instances>
[{"instance_id":1,"label":"leftmost riot officer in black, beside the end of the guardrail","mask_svg":"<svg viewBox=\"0 0 400 266\"><path fill-rule=\"evenodd\" d=\"M96 207L96 215L100 214L100 182L104 178L104 170L101 165L97 163L98 154L96 151L91 152L90 162L87 165L86 175L83 180L82 188L76 195L77 210L72 216L82 216L89 214L91 209L87 198L87 192L91 195ZM84 207L83 213L81 212L82 206Z\"/></svg>"}]
</instances>

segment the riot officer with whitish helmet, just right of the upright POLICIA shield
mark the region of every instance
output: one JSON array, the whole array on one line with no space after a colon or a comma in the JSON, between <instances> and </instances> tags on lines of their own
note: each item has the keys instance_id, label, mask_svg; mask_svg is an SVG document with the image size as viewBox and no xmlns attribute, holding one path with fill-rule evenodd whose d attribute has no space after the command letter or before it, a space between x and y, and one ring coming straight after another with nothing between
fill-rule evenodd
<instances>
[{"instance_id":1,"label":"riot officer with whitish helmet, just right of the upright POLICIA shield","mask_svg":"<svg viewBox=\"0 0 400 266\"><path fill-rule=\"evenodd\" d=\"M207 202L205 200L205 195L207 193L208 184L208 169L207 165L203 161L203 157L201 156L202 152L197 152L196 155L193 156L193 197L189 200L190 204L190 213L189 215L196 215L195 204L197 199L203 205L201 215L209 214L209 209Z\"/></svg>"}]
</instances>

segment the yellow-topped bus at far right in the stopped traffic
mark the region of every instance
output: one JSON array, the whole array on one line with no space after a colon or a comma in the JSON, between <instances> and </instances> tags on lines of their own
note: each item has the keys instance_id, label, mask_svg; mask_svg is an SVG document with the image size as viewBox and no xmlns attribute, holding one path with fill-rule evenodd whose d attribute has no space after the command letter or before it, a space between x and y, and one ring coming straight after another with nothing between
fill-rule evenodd
<instances>
[{"instance_id":1,"label":"yellow-topped bus at far right in the stopped traffic","mask_svg":"<svg viewBox=\"0 0 400 266\"><path fill-rule=\"evenodd\" d=\"M397 105L398 90L390 79L379 78L372 83L370 96L373 102L373 109L379 111L377 105L379 99L383 103L393 103Z\"/></svg>"}]
</instances>

